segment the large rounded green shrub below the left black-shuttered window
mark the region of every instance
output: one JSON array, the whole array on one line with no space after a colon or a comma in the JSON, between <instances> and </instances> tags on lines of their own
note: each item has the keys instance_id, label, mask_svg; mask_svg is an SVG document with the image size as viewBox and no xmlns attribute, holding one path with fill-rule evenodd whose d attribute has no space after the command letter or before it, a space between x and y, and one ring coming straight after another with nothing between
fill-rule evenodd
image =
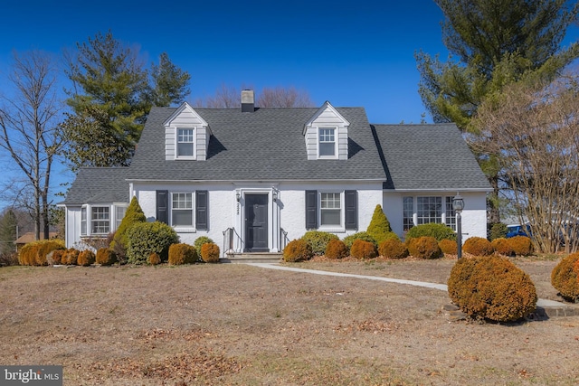
<instances>
[{"instance_id":1,"label":"large rounded green shrub below the left black-shuttered window","mask_svg":"<svg viewBox=\"0 0 579 386\"><path fill-rule=\"evenodd\" d=\"M166 261L169 246L179 242L176 231L164 222L137 222L128 230L128 261L133 264L147 262L148 256L157 252Z\"/></svg>"}]
</instances>

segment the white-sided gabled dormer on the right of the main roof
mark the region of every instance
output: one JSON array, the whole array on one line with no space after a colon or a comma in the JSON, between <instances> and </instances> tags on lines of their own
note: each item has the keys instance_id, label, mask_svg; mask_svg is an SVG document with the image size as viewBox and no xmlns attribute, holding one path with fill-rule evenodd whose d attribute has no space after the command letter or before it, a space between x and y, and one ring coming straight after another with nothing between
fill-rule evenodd
<instances>
[{"instance_id":1,"label":"white-sided gabled dormer on the right of the main roof","mask_svg":"<svg viewBox=\"0 0 579 386\"><path fill-rule=\"evenodd\" d=\"M308 160L347 159L349 126L346 118L326 101L304 127Z\"/></svg>"}]
</instances>

